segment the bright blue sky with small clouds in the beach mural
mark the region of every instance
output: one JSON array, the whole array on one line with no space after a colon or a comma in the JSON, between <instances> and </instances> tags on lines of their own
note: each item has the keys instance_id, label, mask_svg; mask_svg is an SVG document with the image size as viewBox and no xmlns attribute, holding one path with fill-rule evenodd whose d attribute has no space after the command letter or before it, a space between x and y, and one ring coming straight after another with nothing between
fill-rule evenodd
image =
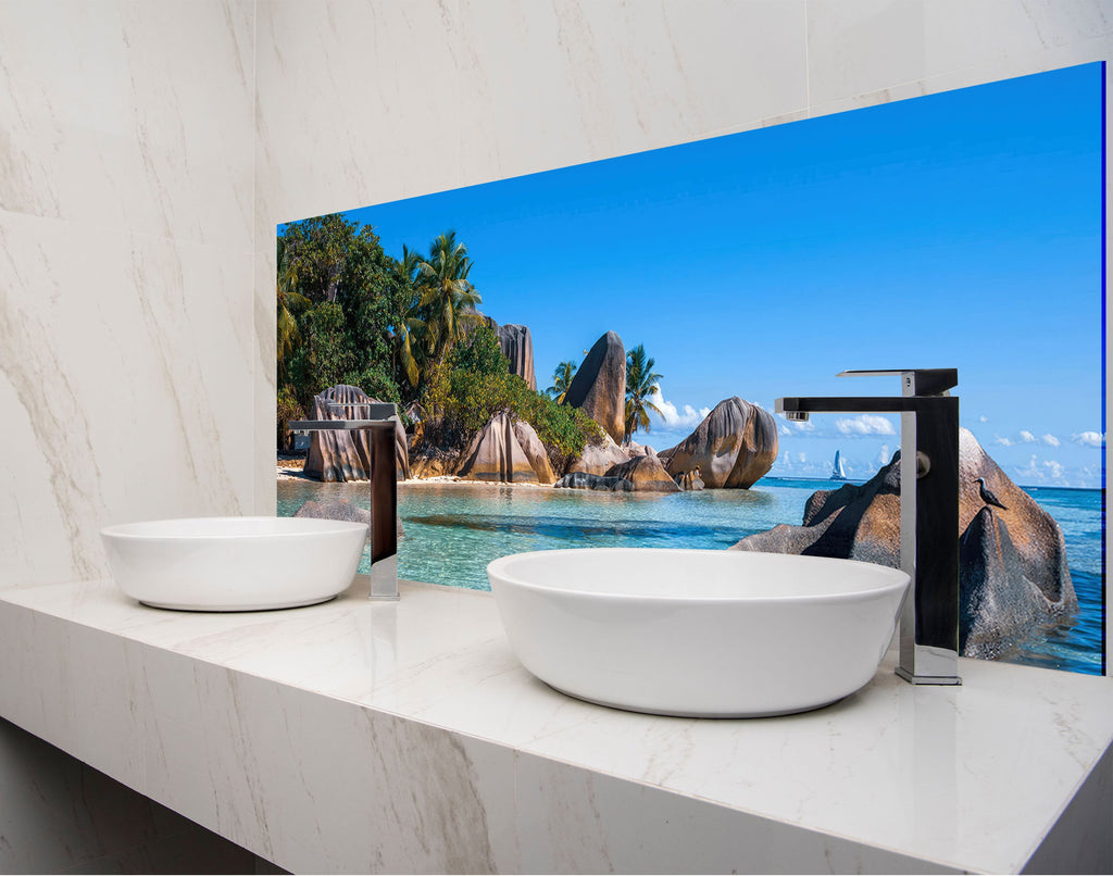
<instances>
[{"instance_id":1,"label":"bright blue sky with small clouds in the beach mural","mask_svg":"<svg viewBox=\"0 0 1113 876\"><path fill-rule=\"evenodd\" d=\"M351 210L386 252L455 228L539 387L602 335L656 360L683 439L730 395L888 394L957 367L962 424L1018 483L1101 484L1102 68ZM867 476L897 419L778 419L772 474Z\"/></svg>"}]
</instances>

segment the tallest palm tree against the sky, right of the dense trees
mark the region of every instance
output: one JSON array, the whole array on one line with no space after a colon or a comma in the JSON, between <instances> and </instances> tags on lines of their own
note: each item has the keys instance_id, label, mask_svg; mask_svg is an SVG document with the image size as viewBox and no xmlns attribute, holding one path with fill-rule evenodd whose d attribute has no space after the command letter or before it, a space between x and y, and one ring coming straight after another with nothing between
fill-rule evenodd
<instances>
[{"instance_id":1,"label":"tallest palm tree against the sky, right of the dense trees","mask_svg":"<svg viewBox=\"0 0 1113 876\"><path fill-rule=\"evenodd\" d=\"M471 269L467 247L456 240L454 230L440 235L430 245L429 258L417 262L418 316L429 332L426 351L436 364L444 362L465 327L480 319L475 305L483 298L467 279Z\"/></svg>"}]
</instances>

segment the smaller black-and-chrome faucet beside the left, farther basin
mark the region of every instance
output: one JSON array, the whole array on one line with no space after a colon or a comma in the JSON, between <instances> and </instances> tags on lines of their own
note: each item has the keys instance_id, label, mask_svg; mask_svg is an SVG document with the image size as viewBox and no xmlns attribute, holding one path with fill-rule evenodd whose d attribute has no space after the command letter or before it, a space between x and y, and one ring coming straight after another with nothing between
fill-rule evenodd
<instances>
[{"instance_id":1,"label":"smaller black-and-chrome faucet beside the left, farther basin","mask_svg":"<svg viewBox=\"0 0 1113 876\"><path fill-rule=\"evenodd\" d=\"M394 473L394 430L398 409L378 402L328 402L331 411L346 414L361 409L358 420L292 420L290 432L364 431L371 435L371 599L398 598L398 489ZM378 473L386 476L376 476Z\"/></svg>"}]
</instances>

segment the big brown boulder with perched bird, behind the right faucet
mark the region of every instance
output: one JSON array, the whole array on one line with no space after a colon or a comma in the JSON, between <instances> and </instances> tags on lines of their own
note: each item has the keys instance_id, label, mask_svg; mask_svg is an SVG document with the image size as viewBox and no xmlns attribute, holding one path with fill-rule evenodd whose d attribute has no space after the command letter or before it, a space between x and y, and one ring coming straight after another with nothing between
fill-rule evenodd
<instances>
[{"instance_id":1,"label":"big brown boulder with perched bird, behind the right faucet","mask_svg":"<svg viewBox=\"0 0 1113 876\"><path fill-rule=\"evenodd\" d=\"M860 486L821 490L804 524L747 535L733 550L808 553L899 567L900 454ZM984 478L1005 509L988 508ZM1058 524L1014 484L965 429L958 433L959 641L967 656L1001 652L1077 608Z\"/></svg>"}]
</instances>

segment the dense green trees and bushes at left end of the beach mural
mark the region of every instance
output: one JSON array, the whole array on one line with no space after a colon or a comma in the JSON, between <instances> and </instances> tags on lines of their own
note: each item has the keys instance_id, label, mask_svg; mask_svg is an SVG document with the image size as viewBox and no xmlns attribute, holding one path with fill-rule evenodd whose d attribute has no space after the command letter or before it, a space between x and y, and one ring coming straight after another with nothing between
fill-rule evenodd
<instances>
[{"instance_id":1,"label":"dense green trees and bushes at left end of the beach mural","mask_svg":"<svg viewBox=\"0 0 1113 876\"><path fill-rule=\"evenodd\" d=\"M560 404L572 363L545 393L510 373L454 230L426 253L403 246L394 258L371 226L341 215L305 219L282 228L277 267L279 445L286 422L341 383L398 403L434 446L462 446L500 411L534 427L559 471L602 440L593 420Z\"/></svg>"}]
</instances>

